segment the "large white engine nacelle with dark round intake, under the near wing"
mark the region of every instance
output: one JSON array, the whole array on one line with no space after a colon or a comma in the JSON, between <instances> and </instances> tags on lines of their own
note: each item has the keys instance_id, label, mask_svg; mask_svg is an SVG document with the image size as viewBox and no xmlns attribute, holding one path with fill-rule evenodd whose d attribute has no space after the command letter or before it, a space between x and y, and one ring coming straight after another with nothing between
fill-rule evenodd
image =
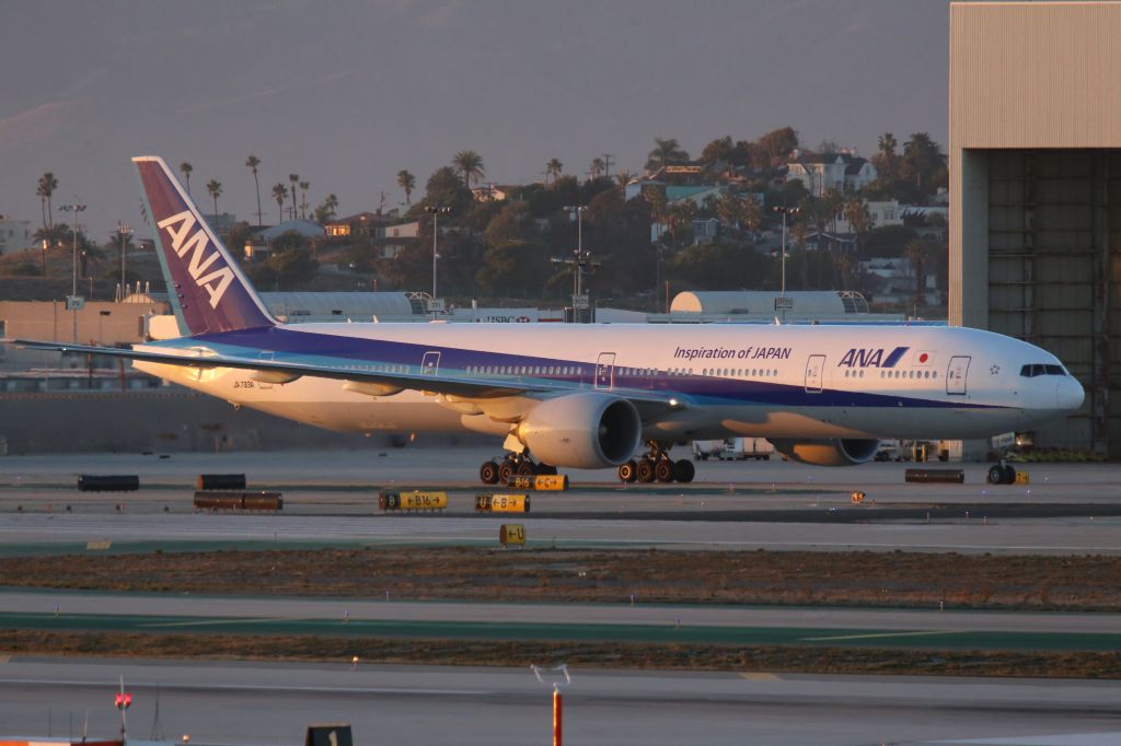
<instances>
[{"instance_id":1,"label":"large white engine nacelle with dark round intake, under the near wing","mask_svg":"<svg viewBox=\"0 0 1121 746\"><path fill-rule=\"evenodd\" d=\"M546 464L601 469L619 466L634 455L642 420L626 399L576 393L537 404L518 423L516 433Z\"/></svg>"}]
</instances>

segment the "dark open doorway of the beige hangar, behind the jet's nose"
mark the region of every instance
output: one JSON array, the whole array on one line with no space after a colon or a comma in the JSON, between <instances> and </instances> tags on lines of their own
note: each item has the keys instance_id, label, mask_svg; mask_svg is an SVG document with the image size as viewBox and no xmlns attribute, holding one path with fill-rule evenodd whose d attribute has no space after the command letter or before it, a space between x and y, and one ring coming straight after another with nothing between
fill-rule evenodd
<instances>
[{"instance_id":1,"label":"dark open doorway of the beige hangar, behind the jet's nose","mask_svg":"<svg viewBox=\"0 0 1121 746\"><path fill-rule=\"evenodd\" d=\"M989 328L1053 352L1086 389L1082 412L1037 445L1118 455L1121 150L984 152Z\"/></svg>"}]
</instances>

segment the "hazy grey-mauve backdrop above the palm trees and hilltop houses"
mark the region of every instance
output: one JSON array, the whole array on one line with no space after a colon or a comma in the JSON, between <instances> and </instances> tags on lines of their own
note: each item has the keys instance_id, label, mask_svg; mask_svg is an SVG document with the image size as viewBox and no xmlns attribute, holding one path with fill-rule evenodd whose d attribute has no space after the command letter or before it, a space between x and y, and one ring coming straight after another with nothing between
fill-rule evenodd
<instances>
[{"instance_id":1,"label":"hazy grey-mauve backdrop above the palm trees and hilltop houses","mask_svg":"<svg viewBox=\"0 0 1121 746\"><path fill-rule=\"evenodd\" d=\"M75 196L104 240L139 225L129 158L194 165L192 192L256 211L245 156L269 195L289 174L341 214L404 201L458 150L487 180L583 174L612 153L639 170L654 138L692 153L716 137L793 125L870 155L877 136L946 144L944 0L4 0L0 213L40 221ZM271 208L270 208L271 207Z\"/></svg>"}]
</instances>

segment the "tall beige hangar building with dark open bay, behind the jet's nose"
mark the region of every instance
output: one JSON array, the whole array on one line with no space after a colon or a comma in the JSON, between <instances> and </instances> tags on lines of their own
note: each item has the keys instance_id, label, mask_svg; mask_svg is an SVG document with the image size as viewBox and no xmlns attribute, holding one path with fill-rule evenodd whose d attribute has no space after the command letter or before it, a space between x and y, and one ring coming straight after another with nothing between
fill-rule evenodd
<instances>
[{"instance_id":1,"label":"tall beige hangar building with dark open bay, behind the jet's nose","mask_svg":"<svg viewBox=\"0 0 1121 746\"><path fill-rule=\"evenodd\" d=\"M1039 446L1121 455L1121 2L949 9L949 323L1086 390Z\"/></svg>"}]
</instances>

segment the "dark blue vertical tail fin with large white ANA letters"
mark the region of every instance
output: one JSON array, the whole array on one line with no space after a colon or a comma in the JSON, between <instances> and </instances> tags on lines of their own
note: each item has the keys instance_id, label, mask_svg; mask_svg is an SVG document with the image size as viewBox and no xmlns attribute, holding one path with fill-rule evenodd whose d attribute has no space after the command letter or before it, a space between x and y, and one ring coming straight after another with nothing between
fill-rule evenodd
<instances>
[{"instance_id":1,"label":"dark blue vertical tail fin with large white ANA letters","mask_svg":"<svg viewBox=\"0 0 1121 746\"><path fill-rule=\"evenodd\" d=\"M238 262L198 213L163 158L133 158L156 253L179 332L195 336L274 326Z\"/></svg>"}]
</instances>

